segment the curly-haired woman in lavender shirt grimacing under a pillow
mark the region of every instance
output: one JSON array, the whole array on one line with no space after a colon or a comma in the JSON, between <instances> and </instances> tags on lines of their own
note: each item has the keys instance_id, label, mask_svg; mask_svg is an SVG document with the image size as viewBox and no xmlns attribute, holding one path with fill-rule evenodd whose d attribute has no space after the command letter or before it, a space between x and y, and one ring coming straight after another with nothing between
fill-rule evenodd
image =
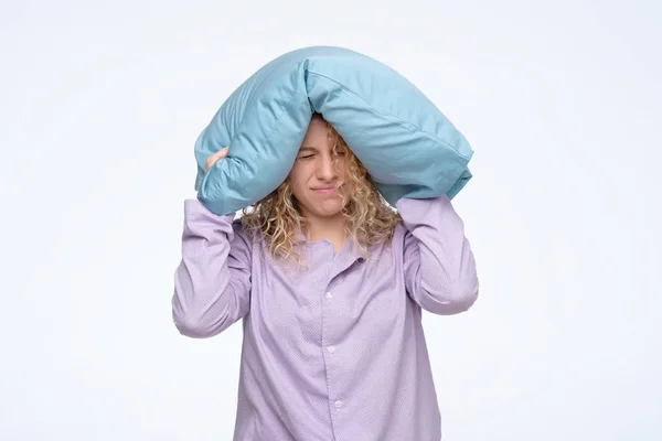
<instances>
[{"instance_id":1,"label":"curly-haired woman in lavender shirt grimacing under a pillow","mask_svg":"<svg viewBox=\"0 0 662 441\"><path fill-rule=\"evenodd\" d=\"M447 196L395 213L314 115L287 180L241 219L184 207L177 327L210 337L244 319L235 441L441 438L421 310L478 295Z\"/></svg>"}]
</instances>

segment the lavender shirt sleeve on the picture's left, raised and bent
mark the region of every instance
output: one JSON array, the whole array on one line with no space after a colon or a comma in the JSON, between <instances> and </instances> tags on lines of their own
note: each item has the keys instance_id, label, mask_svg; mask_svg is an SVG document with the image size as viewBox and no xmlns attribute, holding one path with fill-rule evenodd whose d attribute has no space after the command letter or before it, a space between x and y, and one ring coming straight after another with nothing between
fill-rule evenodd
<instances>
[{"instance_id":1,"label":"lavender shirt sleeve on the picture's left, raised and bent","mask_svg":"<svg viewBox=\"0 0 662 441\"><path fill-rule=\"evenodd\" d=\"M197 200L184 201L182 258L174 273L172 318L181 334L216 335L248 312L250 245L233 223Z\"/></svg>"}]
</instances>

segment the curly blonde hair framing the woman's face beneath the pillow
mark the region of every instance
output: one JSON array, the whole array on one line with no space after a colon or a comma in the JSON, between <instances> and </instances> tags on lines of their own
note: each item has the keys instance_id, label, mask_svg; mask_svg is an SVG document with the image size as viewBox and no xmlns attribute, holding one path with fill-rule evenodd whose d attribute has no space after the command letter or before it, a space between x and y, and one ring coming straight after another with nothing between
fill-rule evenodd
<instances>
[{"instance_id":1,"label":"curly blonde hair framing the woman's face beneath the pillow","mask_svg":"<svg viewBox=\"0 0 662 441\"><path fill-rule=\"evenodd\" d=\"M321 117L319 114L314 116ZM369 247L391 241L401 216L384 201L367 170L344 139L331 123L325 122L328 137L333 146L333 166L338 171L340 157L344 157L346 164L344 180L338 182L337 187L348 182L350 185L346 187L352 189L349 195L339 192L342 197L341 213L348 220L346 234L366 256ZM306 218L298 208L289 178L269 195L243 209L242 226L254 238L259 237L261 233L273 257L286 260L295 257L298 265L301 263L300 254L296 250L300 245L296 232L306 230Z\"/></svg>"}]
</instances>

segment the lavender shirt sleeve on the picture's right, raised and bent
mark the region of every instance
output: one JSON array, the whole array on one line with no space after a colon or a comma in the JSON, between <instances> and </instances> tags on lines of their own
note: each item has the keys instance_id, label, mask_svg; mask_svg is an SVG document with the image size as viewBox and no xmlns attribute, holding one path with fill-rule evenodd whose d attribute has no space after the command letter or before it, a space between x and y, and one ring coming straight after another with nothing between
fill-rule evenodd
<instances>
[{"instance_id":1,"label":"lavender shirt sleeve on the picture's right, raised and bent","mask_svg":"<svg viewBox=\"0 0 662 441\"><path fill-rule=\"evenodd\" d=\"M479 282L465 225L448 196L401 198L396 209L407 232L404 277L409 297L435 314L457 314L471 308Z\"/></svg>"}]
</instances>

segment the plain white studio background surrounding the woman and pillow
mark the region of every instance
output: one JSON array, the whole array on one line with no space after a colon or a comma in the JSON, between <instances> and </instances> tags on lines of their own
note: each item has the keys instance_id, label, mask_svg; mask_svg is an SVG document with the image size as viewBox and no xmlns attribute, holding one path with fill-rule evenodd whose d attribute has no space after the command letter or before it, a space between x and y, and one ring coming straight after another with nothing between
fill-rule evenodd
<instances>
[{"instance_id":1,"label":"plain white studio background surrounding the woman and pillow","mask_svg":"<svg viewBox=\"0 0 662 441\"><path fill-rule=\"evenodd\" d=\"M426 315L445 441L662 439L658 1L2 1L0 439L229 440L241 325L171 321L193 142L332 44L476 150L474 308Z\"/></svg>"}]
</instances>

